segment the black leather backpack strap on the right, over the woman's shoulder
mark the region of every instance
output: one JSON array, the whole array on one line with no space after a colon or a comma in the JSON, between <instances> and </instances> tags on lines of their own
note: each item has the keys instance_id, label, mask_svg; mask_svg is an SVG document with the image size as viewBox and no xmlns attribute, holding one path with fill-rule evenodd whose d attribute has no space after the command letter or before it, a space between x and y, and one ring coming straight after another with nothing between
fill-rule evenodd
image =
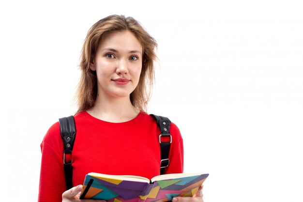
<instances>
[{"instance_id":1,"label":"black leather backpack strap on the right, over the woman's shoulder","mask_svg":"<svg viewBox=\"0 0 303 202\"><path fill-rule=\"evenodd\" d=\"M157 122L158 126L160 127L161 134L159 136L159 142L160 142L160 149L161 149L161 167L160 167L160 174L163 174L166 167L169 164L169 150L170 150L170 144L172 141L171 135L169 133L169 127L171 124L171 121L167 117L163 116L157 116L154 114L150 114ZM164 141L164 137L169 137L169 141Z\"/></svg>"}]
</instances>

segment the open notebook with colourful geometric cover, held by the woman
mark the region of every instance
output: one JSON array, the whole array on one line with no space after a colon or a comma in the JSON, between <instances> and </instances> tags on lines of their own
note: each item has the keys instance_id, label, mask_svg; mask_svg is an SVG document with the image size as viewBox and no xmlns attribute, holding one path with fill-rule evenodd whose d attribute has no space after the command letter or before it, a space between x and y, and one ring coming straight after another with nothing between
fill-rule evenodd
<instances>
[{"instance_id":1,"label":"open notebook with colourful geometric cover, held by the woman","mask_svg":"<svg viewBox=\"0 0 303 202\"><path fill-rule=\"evenodd\" d=\"M132 175L91 172L84 180L80 199L106 202L167 202L175 196L193 196L208 173L165 174L151 180Z\"/></svg>"}]
</instances>

